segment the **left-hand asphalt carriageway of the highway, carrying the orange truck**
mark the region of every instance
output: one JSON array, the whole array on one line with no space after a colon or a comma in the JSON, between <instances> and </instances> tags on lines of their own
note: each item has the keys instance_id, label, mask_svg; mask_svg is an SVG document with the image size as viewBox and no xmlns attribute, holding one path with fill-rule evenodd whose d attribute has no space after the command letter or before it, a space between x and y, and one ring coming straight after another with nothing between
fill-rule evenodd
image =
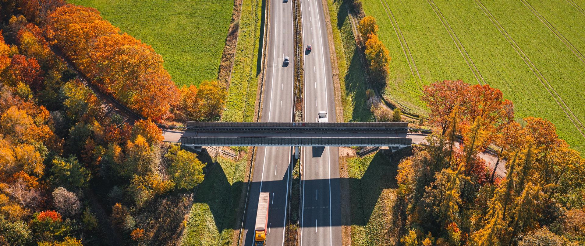
<instances>
[{"instance_id":1,"label":"left-hand asphalt carriageway of the highway, carrying the orange truck","mask_svg":"<svg viewBox=\"0 0 585 246\"><path fill-rule=\"evenodd\" d=\"M294 65L292 4L268 0L269 34L264 78L263 122L292 121L292 79ZM290 57L290 65L283 64ZM253 184L246 208L243 235L244 245L253 245L256 210L260 192L270 192L267 245L284 245L284 224L287 219L288 189L290 189L291 147L259 147L253 170ZM264 182L270 181L270 182Z\"/></svg>"}]
</instances>

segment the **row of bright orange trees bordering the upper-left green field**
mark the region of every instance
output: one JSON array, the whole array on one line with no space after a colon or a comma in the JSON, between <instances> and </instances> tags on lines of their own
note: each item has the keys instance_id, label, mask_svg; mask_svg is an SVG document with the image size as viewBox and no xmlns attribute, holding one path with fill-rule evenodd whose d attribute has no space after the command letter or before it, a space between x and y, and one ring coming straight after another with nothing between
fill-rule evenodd
<instances>
[{"instance_id":1,"label":"row of bright orange trees bordering the upper-left green field","mask_svg":"<svg viewBox=\"0 0 585 246\"><path fill-rule=\"evenodd\" d=\"M154 121L171 116L179 92L150 45L120 34L92 8L62 6L47 22L47 36L92 83Z\"/></svg>"}]
</instances>

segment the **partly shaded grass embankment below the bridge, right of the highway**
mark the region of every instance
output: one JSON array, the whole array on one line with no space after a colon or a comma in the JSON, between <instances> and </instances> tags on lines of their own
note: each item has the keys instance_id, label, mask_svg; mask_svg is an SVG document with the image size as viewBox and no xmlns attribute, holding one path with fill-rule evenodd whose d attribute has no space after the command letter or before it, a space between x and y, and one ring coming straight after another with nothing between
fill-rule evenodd
<instances>
[{"instance_id":1,"label":"partly shaded grass embankment below the bridge, right of the highway","mask_svg":"<svg viewBox=\"0 0 585 246\"><path fill-rule=\"evenodd\" d=\"M349 174L352 245L395 245L400 230L393 213L397 165L382 152L340 161L347 162Z\"/></svg>"}]
</instances>

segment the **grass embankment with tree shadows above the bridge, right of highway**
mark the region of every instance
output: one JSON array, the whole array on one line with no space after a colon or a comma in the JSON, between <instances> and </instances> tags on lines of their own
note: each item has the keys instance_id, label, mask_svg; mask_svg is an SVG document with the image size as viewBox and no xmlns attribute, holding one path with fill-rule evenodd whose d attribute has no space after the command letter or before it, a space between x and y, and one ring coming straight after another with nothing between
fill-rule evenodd
<instances>
[{"instance_id":1,"label":"grass embankment with tree shadows above the bridge, right of highway","mask_svg":"<svg viewBox=\"0 0 585 246\"><path fill-rule=\"evenodd\" d=\"M367 86L363 65L356 51L356 43L352 33L352 25L349 22L349 17L347 17L347 9L345 5L342 5L341 0L328 0L327 3L339 67L343 121L374 121L374 115L367 105Z\"/></svg>"}]
</instances>

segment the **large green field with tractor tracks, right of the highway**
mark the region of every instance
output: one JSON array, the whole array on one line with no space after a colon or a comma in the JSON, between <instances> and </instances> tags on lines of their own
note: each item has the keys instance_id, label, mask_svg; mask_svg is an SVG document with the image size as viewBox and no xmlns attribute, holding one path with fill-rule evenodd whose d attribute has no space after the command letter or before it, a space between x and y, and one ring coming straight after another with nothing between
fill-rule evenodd
<instances>
[{"instance_id":1,"label":"large green field with tractor tracks, right of the highway","mask_svg":"<svg viewBox=\"0 0 585 246\"><path fill-rule=\"evenodd\" d=\"M392 57L385 96L424 113L421 87L489 84L517 118L552 121L585 152L585 1L363 0Z\"/></svg>"}]
</instances>

